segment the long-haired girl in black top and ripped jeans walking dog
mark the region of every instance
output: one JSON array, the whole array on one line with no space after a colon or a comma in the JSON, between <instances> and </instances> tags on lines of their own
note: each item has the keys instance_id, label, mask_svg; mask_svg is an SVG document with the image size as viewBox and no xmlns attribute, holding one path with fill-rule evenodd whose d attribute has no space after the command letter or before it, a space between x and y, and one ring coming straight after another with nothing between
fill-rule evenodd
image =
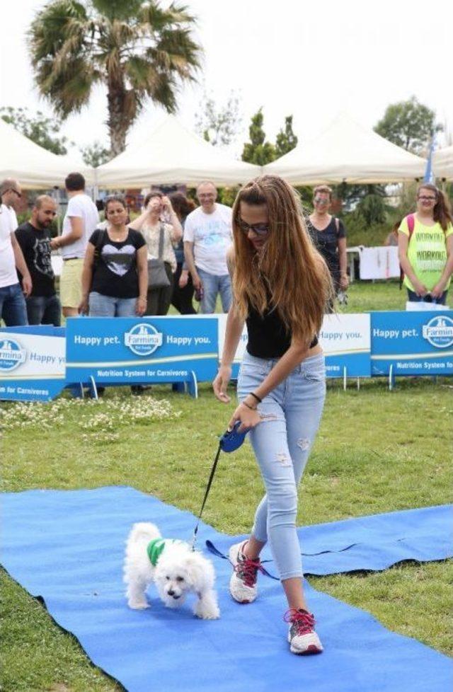
<instances>
[{"instance_id":1,"label":"long-haired girl in black top and ripped jeans walking dog","mask_svg":"<svg viewBox=\"0 0 453 692\"><path fill-rule=\"evenodd\" d=\"M248 540L232 546L231 596L251 603L262 571L260 551L269 541L288 602L285 621L295 654L319 653L302 586L296 531L297 485L321 420L326 393L321 329L331 279L304 226L294 190L263 175L245 185L233 209L229 252L234 300L226 321L224 351L214 393L223 403L243 324L248 344L238 379L239 406L229 421L250 429L266 494Z\"/></svg>"}]
</instances>

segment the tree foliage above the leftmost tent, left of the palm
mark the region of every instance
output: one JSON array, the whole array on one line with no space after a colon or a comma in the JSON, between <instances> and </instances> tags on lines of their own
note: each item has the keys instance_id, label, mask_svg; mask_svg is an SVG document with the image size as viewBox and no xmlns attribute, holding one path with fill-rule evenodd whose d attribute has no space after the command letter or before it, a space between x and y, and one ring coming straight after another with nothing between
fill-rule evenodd
<instances>
[{"instance_id":1,"label":"tree foliage above the leftmost tent, left of the palm","mask_svg":"<svg viewBox=\"0 0 453 692\"><path fill-rule=\"evenodd\" d=\"M5 122L43 149L53 154L67 154L67 146L72 142L62 135L57 136L62 126L58 118L47 117L40 110L31 115L28 108L13 108L11 105L0 108L0 113Z\"/></svg>"}]
</instances>

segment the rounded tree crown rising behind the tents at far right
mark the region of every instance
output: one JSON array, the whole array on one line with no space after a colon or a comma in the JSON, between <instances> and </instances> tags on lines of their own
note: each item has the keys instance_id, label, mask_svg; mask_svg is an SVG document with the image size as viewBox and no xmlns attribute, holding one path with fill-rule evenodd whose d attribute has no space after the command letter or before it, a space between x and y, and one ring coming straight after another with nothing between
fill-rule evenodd
<instances>
[{"instance_id":1,"label":"rounded tree crown rising behind the tents at far right","mask_svg":"<svg viewBox=\"0 0 453 692\"><path fill-rule=\"evenodd\" d=\"M435 112L412 96L407 101L391 103L374 132L413 154L423 154L434 134L442 129L436 123Z\"/></svg>"}]
</instances>

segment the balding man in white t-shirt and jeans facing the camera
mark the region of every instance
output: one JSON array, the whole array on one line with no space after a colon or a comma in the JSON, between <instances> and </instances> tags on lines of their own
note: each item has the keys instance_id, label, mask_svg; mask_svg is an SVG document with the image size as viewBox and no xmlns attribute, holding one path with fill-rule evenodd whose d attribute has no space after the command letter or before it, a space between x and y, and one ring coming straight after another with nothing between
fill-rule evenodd
<instances>
[{"instance_id":1,"label":"balding man in white t-shirt and jeans facing the camera","mask_svg":"<svg viewBox=\"0 0 453 692\"><path fill-rule=\"evenodd\" d=\"M218 204L213 183L197 187L200 207L191 212L184 225L184 255L195 287L201 296L202 313L213 313L217 295L222 309L231 305L231 279L226 266L226 250L231 245L231 209Z\"/></svg>"}]
</instances>

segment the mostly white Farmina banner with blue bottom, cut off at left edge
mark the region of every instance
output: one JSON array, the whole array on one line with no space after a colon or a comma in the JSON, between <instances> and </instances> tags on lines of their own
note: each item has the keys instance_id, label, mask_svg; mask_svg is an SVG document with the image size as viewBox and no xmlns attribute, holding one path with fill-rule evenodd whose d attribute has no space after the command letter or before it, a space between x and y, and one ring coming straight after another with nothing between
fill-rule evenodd
<instances>
[{"instance_id":1,"label":"mostly white Farmina banner with blue bottom, cut off at left edge","mask_svg":"<svg viewBox=\"0 0 453 692\"><path fill-rule=\"evenodd\" d=\"M50 325L0 329L0 399L49 401L65 381L64 328Z\"/></svg>"}]
</instances>

